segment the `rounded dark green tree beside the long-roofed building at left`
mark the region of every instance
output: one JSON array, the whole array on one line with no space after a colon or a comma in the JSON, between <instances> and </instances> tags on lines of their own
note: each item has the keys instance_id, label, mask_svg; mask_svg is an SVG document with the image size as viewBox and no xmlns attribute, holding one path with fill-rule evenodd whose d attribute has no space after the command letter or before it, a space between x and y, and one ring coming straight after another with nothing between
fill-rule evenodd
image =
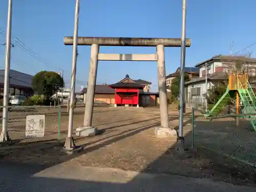
<instances>
[{"instance_id":1,"label":"rounded dark green tree beside the long-roofed building at left","mask_svg":"<svg viewBox=\"0 0 256 192\"><path fill-rule=\"evenodd\" d=\"M59 88L64 87L63 78L53 71L40 71L32 79L33 90L38 95L51 97Z\"/></svg>"}]
</instances>

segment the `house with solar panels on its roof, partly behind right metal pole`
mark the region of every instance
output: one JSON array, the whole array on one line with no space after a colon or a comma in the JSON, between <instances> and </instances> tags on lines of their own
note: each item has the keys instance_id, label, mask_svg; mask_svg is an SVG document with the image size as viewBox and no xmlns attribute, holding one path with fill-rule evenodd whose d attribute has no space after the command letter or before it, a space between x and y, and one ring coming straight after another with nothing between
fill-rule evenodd
<instances>
[{"instance_id":1,"label":"house with solar panels on its roof, partly behind right metal pole","mask_svg":"<svg viewBox=\"0 0 256 192\"><path fill-rule=\"evenodd\" d=\"M197 67L185 67L184 71L186 74L189 75L189 78L192 79L196 79L199 77L199 68ZM172 84L172 80L176 77L180 76L180 67L177 68L175 73L169 74L166 76L166 90L167 92L170 92L170 84Z\"/></svg>"}]
</instances>

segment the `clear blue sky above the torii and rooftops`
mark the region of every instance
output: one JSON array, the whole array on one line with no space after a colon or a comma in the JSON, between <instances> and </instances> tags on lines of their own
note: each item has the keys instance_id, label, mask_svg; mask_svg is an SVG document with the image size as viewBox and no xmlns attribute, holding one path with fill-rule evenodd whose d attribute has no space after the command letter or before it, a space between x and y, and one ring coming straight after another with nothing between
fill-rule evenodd
<instances>
[{"instance_id":1,"label":"clear blue sky above the torii and rooftops","mask_svg":"<svg viewBox=\"0 0 256 192\"><path fill-rule=\"evenodd\" d=\"M256 1L187 0L186 66L217 54L229 54L256 42ZM63 69L70 81L72 47L63 45L73 36L75 0L13 0L12 36L18 37L51 65L34 59L19 47L12 48L11 69L35 74ZM6 30L8 0L0 1L0 29ZM182 0L80 0L79 36L180 37ZM0 44L5 35L0 32ZM253 51L254 47L251 47ZM249 51L249 50L246 50ZM5 47L0 46L0 67ZM155 48L102 47L101 53L155 53ZM88 81L90 47L78 48L76 89ZM254 53L255 54L255 53ZM254 55L253 54L253 55ZM165 48L166 74L180 66L180 48ZM97 83L115 83L129 74L153 82L157 90L156 62L108 62L98 65ZM67 86L69 86L67 84Z\"/></svg>"}]
</instances>

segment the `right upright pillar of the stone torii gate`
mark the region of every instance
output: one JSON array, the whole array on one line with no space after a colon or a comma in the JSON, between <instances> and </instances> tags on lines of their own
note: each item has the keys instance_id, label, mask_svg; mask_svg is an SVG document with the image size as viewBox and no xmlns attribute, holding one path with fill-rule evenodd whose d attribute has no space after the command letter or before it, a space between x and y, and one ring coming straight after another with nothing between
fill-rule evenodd
<instances>
[{"instance_id":1,"label":"right upright pillar of the stone torii gate","mask_svg":"<svg viewBox=\"0 0 256 192\"><path fill-rule=\"evenodd\" d=\"M164 46L157 46L157 69L158 69L158 87L159 87L159 99L160 99L160 118L161 127L169 128L168 121L168 104L166 94L166 77L165 77L165 60L164 60Z\"/></svg>"}]
</instances>

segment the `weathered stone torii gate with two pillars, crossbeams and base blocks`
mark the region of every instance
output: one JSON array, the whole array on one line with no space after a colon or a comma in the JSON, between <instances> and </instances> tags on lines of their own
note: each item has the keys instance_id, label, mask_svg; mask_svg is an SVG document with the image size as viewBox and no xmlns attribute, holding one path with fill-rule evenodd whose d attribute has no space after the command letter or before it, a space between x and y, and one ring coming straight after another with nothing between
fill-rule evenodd
<instances>
[{"instance_id":1,"label":"weathered stone torii gate with two pillars, crossbeams and base blocks","mask_svg":"<svg viewBox=\"0 0 256 192\"><path fill-rule=\"evenodd\" d=\"M181 47L180 38L125 38L125 37L78 37L78 45L91 46L90 70L86 94L86 108L84 111L83 126L76 129L78 136L92 136L97 132L97 127L92 126L94 93L96 86L98 60L112 61L157 61L158 86L160 97L161 126L156 127L156 135L175 135L174 129L169 127L168 104L166 94L166 74L164 47ZM73 45L73 37L64 37L65 45ZM191 40L186 39L186 47L190 47ZM156 47L156 54L104 54L99 53L99 46L124 46L124 47Z\"/></svg>"}]
</instances>

